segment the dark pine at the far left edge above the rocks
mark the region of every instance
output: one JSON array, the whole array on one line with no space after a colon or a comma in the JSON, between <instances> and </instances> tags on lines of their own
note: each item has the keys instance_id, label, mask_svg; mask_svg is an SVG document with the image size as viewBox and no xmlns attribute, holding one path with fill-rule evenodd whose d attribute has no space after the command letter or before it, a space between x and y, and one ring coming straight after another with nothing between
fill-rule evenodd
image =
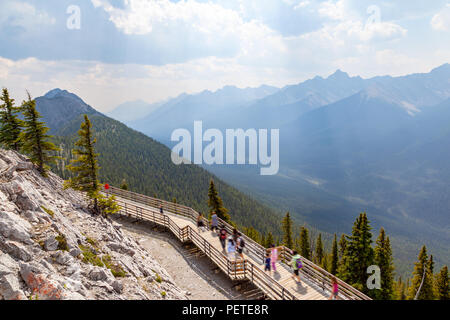
<instances>
[{"instance_id":1,"label":"dark pine at the far left edge above the rocks","mask_svg":"<svg viewBox=\"0 0 450 320\"><path fill-rule=\"evenodd\" d=\"M21 140L19 139L23 122L16 115L20 108L14 106L14 99L9 97L8 89L3 88L0 100L0 145L5 148L19 151Z\"/></svg>"}]
</instances>

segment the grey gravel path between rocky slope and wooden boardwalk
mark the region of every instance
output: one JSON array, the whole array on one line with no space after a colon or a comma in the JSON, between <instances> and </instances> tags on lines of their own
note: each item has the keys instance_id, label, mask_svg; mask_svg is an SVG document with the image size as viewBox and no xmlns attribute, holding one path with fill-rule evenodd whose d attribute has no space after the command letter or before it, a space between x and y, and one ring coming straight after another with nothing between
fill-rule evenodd
<instances>
[{"instance_id":1,"label":"grey gravel path between rocky slope and wooden boardwalk","mask_svg":"<svg viewBox=\"0 0 450 320\"><path fill-rule=\"evenodd\" d=\"M151 223L134 223L133 219L115 219L123 231L134 237L172 276L177 286L192 300L244 300L258 297L259 290L245 285L242 292L224 273L217 272L206 256L200 255L194 245L183 245L171 233ZM247 287L246 287L247 286ZM256 294L249 296L250 293Z\"/></svg>"}]
</instances>

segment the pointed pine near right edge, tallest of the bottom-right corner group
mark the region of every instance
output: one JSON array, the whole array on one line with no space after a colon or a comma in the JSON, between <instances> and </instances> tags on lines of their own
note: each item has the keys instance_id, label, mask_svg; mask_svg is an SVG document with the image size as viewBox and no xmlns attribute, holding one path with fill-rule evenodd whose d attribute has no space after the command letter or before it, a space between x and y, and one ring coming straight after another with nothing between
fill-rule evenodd
<instances>
[{"instance_id":1,"label":"pointed pine near right edge, tallest of the bottom-right corner group","mask_svg":"<svg viewBox=\"0 0 450 320\"><path fill-rule=\"evenodd\" d=\"M423 279L423 284L422 284ZM422 287L420 288L420 285ZM409 288L408 299L412 300L420 288L418 300L433 300L433 275L430 274L430 261L428 260L427 248L425 246L420 250L418 261L415 263L413 279Z\"/></svg>"}]
</instances>

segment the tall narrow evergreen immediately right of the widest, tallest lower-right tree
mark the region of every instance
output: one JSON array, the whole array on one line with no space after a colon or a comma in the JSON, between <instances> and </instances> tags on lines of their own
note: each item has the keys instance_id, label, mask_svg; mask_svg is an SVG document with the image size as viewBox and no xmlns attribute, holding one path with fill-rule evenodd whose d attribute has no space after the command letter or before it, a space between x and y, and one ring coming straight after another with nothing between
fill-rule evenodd
<instances>
[{"instance_id":1,"label":"tall narrow evergreen immediately right of the widest, tallest lower-right tree","mask_svg":"<svg viewBox=\"0 0 450 320\"><path fill-rule=\"evenodd\" d=\"M374 290L374 297L378 300L391 300L394 293L394 263L391 243L383 228L376 241L374 262L381 271L381 288Z\"/></svg>"}]
</instances>

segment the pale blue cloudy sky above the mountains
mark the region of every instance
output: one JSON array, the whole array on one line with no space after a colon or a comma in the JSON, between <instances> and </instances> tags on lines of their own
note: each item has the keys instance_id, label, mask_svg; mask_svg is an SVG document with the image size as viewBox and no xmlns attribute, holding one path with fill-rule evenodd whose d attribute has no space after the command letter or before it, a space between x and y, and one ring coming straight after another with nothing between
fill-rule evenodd
<instances>
[{"instance_id":1,"label":"pale blue cloudy sky above the mountains","mask_svg":"<svg viewBox=\"0 0 450 320\"><path fill-rule=\"evenodd\" d=\"M17 101L66 89L107 112L337 69L429 72L449 40L449 0L1 0L0 87Z\"/></svg>"}]
</instances>

